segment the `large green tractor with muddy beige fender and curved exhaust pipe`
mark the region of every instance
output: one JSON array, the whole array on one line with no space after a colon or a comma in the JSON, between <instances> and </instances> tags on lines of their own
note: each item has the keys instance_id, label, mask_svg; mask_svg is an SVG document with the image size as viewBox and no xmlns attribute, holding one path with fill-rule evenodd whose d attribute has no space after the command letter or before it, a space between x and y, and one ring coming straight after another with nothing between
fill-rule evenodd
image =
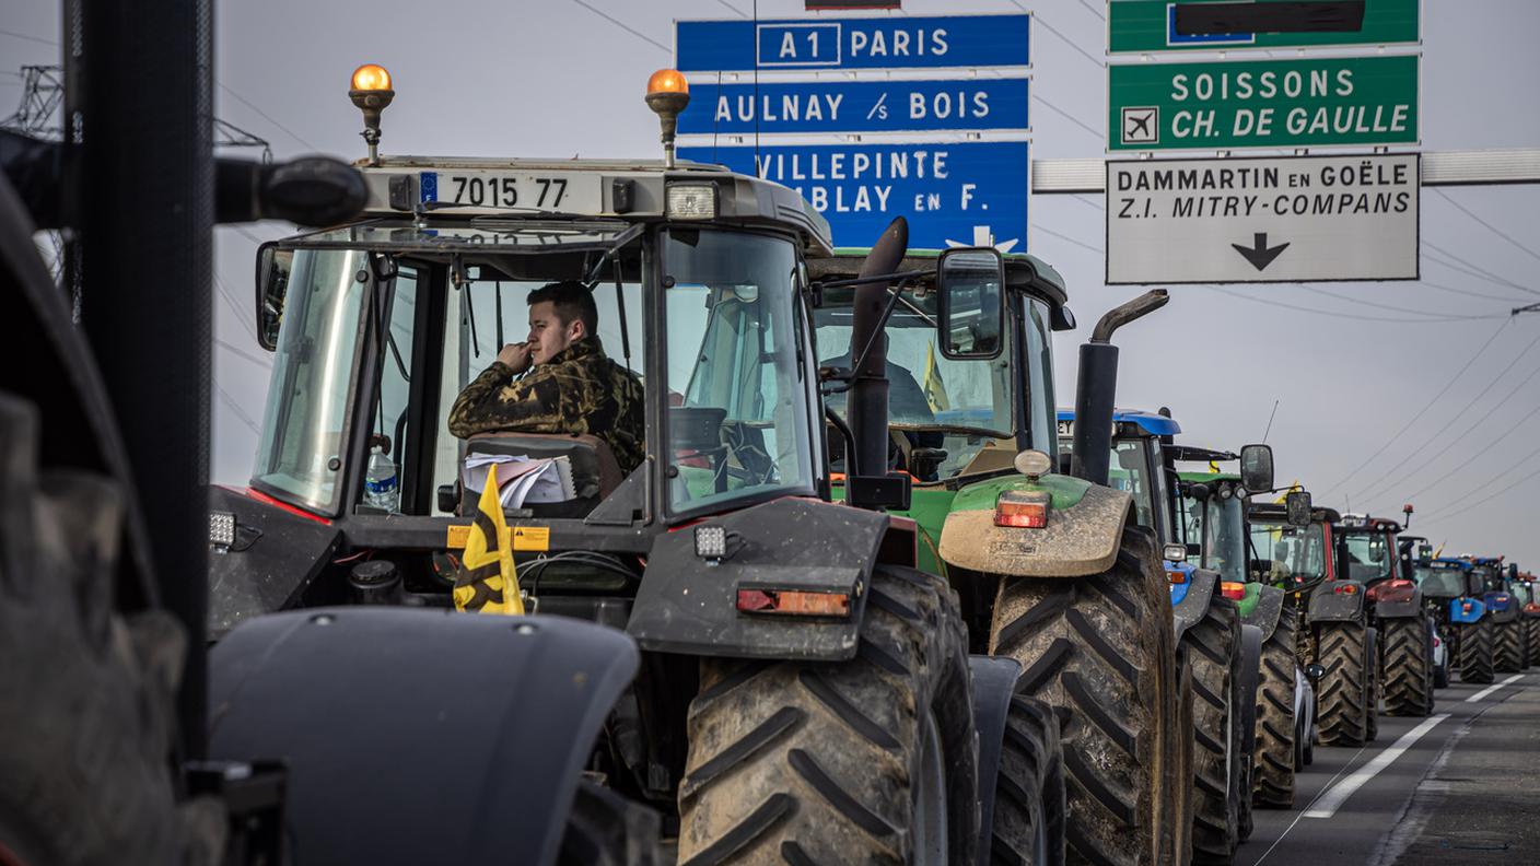
<instances>
[{"instance_id":1,"label":"large green tractor with muddy beige fender and curved exhaust pipe","mask_svg":"<svg viewBox=\"0 0 1540 866\"><path fill-rule=\"evenodd\" d=\"M1184 861L1192 670L1177 661L1157 536L1126 492L1106 487L1110 336L1164 296L1113 310L1081 347L1080 402L1106 422L1076 431L1075 451L1100 459L1055 473L1050 339L1073 327L1064 282L1032 256L1004 256L998 308L975 300L986 314L964 319L935 280L947 282L969 256L941 253L936 277L889 297L887 468L907 473L913 488L909 507L892 513L915 521L919 567L956 589L970 649L1016 660L1018 692L1064 720L1070 851L1092 863ZM810 271L838 280L858 265L835 256ZM901 267L932 270L919 256ZM862 311L850 293L825 288L819 300L819 364L838 371ZM838 373L825 381L829 422L839 430L855 398L839 393ZM838 448L839 436L832 441ZM842 459L835 455L836 467Z\"/></svg>"}]
</instances>

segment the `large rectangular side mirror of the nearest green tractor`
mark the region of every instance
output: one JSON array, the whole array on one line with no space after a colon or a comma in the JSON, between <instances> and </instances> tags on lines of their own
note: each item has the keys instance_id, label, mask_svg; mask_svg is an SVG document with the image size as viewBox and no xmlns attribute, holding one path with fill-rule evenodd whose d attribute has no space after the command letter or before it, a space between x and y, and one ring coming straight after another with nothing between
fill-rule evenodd
<instances>
[{"instance_id":1,"label":"large rectangular side mirror of the nearest green tractor","mask_svg":"<svg viewBox=\"0 0 1540 866\"><path fill-rule=\"evenodd\" d=\"M959 247L936 263L938 330L944 357L999 357L1006 263L993 247Z\"/></svg>"}]
</instances>

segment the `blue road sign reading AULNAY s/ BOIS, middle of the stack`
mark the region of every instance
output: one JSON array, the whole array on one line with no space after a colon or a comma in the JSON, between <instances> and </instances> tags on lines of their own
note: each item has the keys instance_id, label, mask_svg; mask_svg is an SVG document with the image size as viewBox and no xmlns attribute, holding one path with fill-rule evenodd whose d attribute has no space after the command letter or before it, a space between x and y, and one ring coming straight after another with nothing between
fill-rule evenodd
<instances>
[{"instance_id":1,"label":"blue road sign reading AULNAY s/ BOIS, middle of the stack","mask_svg":"<svg viewBox=\"0 0 1540 866\"><path fill-rule=\"evenodd\" d=\"M681 134L1029 129L1027 79L696 83Z\"/></svg>"}]
</instances>

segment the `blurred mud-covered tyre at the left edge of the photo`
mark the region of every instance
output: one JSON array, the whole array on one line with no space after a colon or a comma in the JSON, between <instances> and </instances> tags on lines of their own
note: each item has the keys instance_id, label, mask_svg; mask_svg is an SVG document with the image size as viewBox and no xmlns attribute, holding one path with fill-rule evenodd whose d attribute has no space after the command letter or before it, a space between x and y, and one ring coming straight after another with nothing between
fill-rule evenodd
<instances>
[{"instance_id":1,"label":"blurred mud-covered tyre at the left edge of the photo","mask_svg":"<svg viewBox=\"0 0 1540 866\"><path fill-rule=\"evenodd\" d=\"M182 863L183 632L163 612L114 610L120 487L38 470L37 455L37 410L0 393L0 863Z\"/></svg>"}]
</instances>

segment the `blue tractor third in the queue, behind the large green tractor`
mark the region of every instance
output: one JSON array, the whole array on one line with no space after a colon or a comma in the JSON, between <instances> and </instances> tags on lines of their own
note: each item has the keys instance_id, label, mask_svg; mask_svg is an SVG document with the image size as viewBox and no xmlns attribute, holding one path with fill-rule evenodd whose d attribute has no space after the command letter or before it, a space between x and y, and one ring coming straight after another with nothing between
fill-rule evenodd
<instances>
[{"instance_id":1,"label":"blue tractor third in the queue, behind the large green tractor","mask_svg":"<svg viewBox=\"0 0 1540 866\"><path fill-rule=\"evenodd\" d=\"M1080 413L1060 410L1061 433L1080 431ZM1181 427L1169 413L1118 411L1109 450L1112 485L1133 496L1141 525L1160 538L1170 582L1178 646L1194 667L1194 861L1229 863L1252 829L1252 757L1263 635L1244 626L1221 576L1187 562L1178 539L1180 493L1172 465ZM1078 445L1078 442L1076 442ZM1076 453L1076 458L1080 455ZM1249 445L1247 487L1272 487L1272 455Z\"/></svg>"}]
</instances>

